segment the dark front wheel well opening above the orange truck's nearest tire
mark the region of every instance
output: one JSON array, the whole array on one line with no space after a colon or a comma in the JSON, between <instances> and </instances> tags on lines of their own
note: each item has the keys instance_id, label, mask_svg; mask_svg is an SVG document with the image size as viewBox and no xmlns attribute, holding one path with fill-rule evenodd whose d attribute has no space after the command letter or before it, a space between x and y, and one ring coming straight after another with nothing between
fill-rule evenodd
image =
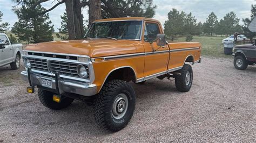
<instances>
[{"instance_id":1,"label":"dark front wheel well opening above the orange truck's nearest tire","mask_svg":"<svg viewBox=\"0 0 256 143\"><path fill-rule=\"evenodd\" d=\"M112 71L112 73L107 77L106 82L111 80L124 80L126 82L136 82L136 75L132 68L120 68Z\"/></svg>"}]
</instances>

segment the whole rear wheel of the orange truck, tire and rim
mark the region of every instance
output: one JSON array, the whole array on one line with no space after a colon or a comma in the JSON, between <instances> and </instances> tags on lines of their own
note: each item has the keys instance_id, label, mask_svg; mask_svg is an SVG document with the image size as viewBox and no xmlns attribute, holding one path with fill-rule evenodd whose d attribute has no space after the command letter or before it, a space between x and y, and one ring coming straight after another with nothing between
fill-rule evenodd
<instances>
[{"instance_id":1,"label":"whole rear wheel of the orange truck, tire and rim","mask_svg":"<svg viewBox=\"0 0 256 143\"><path fill-rule=\"evenodd\" d=\"M182 69L178 70L175 77L175 85L178 91L187 92L190 91L193 82L193 70L190 65L185 64Z\"/></svg>"}]
</instances>

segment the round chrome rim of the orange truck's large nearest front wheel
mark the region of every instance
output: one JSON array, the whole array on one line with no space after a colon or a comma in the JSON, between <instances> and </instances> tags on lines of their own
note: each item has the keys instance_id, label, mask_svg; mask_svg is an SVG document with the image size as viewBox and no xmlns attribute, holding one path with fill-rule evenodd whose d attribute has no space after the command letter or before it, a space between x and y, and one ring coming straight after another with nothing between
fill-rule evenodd
<instances>
[{"instance_id":1,"label":"round chrome rim of the orange truck's large nearest front wheel","mask_svg":"<svg viewBox=\"0 0 256 143\"><path fill-rule=\"evenodd\" d=\"M128 108L128 98L125 94L119 94L112 106L112 115L115 119L123 118Z\"/></svg>"}]
</instances>

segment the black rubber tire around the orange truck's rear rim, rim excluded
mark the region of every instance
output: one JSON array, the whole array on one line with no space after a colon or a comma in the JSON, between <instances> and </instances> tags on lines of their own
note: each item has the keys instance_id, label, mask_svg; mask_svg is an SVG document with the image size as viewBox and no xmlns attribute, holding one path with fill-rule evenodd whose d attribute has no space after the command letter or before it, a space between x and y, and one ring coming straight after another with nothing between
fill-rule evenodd
<instances>
[{"instance_id":1,"label":"black rubber tire around the orange truck's rear rim, rim excluded","mask_svg":"<svg viewBox=\"0 0 256 143\"><path fill-rule=\"evenodd\" d=\"M187 70L192 71L192 76L193 76L193 70L192 67L188 64L185 64L182 69L178 70L177 73L180 73L181 75L177 75L175 77L175 85L176 85L176 89L180 92L187 92L190 90L190 88L187 88L186 83L184 82L184 76L186 76ZM191 81L191 86L192 86L192 82L193 82L193 77L192 77L192 81Z\"/></svg>"}]
</instances>

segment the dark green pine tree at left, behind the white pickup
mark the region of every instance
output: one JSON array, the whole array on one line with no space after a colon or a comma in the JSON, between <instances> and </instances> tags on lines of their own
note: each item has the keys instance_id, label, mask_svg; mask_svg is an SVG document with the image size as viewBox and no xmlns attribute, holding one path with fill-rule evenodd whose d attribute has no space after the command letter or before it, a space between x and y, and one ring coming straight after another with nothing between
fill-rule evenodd
<instances>
[{"instance_id":1,"label":"dark green pine tree at left, behind the white pickup","mask_svg":"<svg viewBox=\"0 0 256 143\"><path fill-rule=\"evenodd\" d=\"M37 5L34 9L31 6L35 1L26 1L21 8L15 9L18 16L18 22L12 27L12 32L17 35L19 40L28 43L38 43L45 41L53 41L52 33L53 25L49 20L49 15L40 15L46 9L41 4Z\"/></svg>"}]
</instances>

